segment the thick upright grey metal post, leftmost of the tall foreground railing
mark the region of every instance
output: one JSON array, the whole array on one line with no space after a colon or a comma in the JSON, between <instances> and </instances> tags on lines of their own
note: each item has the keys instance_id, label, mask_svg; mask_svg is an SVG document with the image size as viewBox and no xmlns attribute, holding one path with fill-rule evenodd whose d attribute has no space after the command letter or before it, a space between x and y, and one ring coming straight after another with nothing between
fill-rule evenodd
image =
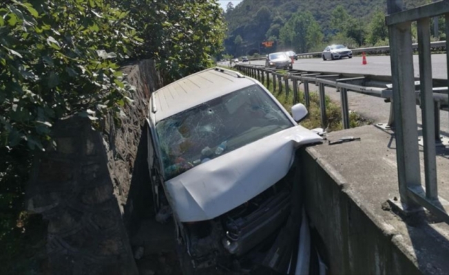
<instances>
[{"instance_id":1,"label":"thick upright grey metal post, leftmost of the tall foreground railing","mask_svg":"<svg viewBox=\"0 0 449 275\"><path fill-rule=\"evenodd\" d=\"M388 14L400 12L401 0L387 1ZM408 187L421 186L419 166L418 130L413 73L411 23L388 25L390 41L391 75L393 76L393 104L395 109L395 135L397 174L401 203L406 210L417 204L408 197Z\"/></svg>"}]
</instances>

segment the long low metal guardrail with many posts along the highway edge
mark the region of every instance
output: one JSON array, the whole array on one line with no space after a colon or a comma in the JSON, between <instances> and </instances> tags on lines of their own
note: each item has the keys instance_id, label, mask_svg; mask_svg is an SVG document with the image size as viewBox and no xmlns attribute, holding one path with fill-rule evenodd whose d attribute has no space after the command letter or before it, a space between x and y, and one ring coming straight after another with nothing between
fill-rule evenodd
<instances>
[{"instance_id":1,"label":"long low metal guardrail with many posts along the highway edge","mask_svg":"<svg viewBox=\"0 0 449 275\"><path fill-rule=\"evenodd\" d=\"M300 102L299 89L300 85L304 85L304 104L310 107L310 84L319 87L320 96L320 113L321 125L323 128L327 126L326 108L324 107L326 87L334 87L340 92L340 100L342 107L342 124L344 129L349 128L349 108L348 108L348 91L354 91L359 94L384 98L386 102L393 99L393 85L391 79L385 76L364 76L361 74L331 74L324 72L307 72L302 70L290 70L287 74L281 73L278 69L264 67L262 65L246 65L238 64L235 66L244 74L256 78L262 84L273 85L275 91L282 92L285 89L286 96L289 96L290 90L293 89L293 104ZM291 83L291 87L290 84ZM284 86L282 86L284 84ZM419 81L414 83L415 87L419 87ZM448 96L441 94L448 91L447 87L435 87L433 100L437 104L436 112L449 106ZM420 104L421 91L415 91L415 103ZM439 115L435 116L435 138L439 138ZM387 126L394 126L395 115L393 109L390 108L390 119Z\"/></svg>"}]
</instances>

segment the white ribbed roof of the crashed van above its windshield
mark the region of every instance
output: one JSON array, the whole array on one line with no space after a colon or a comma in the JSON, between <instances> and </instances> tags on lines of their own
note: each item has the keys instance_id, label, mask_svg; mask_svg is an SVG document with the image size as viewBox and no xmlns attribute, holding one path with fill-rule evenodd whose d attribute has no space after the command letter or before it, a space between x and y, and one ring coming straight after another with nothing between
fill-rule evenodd
<instances>
[{"instance_id":1,"label":"white ribbed roof of the crashed van above its windshield","mask_svg":"<svg viewBox=\"0 0 449 275\"><path fill-rule=\"evenodd\" d=\"M202 102L254 84L251 78L229 69L205 69L155 91L150 98L150 115L158 122Z\"/></svg>"}]
</instances>

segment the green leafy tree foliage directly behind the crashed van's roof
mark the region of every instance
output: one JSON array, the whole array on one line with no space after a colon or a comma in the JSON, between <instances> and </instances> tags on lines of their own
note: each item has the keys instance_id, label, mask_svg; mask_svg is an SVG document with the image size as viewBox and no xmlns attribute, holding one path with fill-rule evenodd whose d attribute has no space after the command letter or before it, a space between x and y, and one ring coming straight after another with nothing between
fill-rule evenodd
<instances>
[{"instance_id":1,"label":"green leafy tree foliage directly behind the crashed van's roof","mask_svg":"<svg viewBox=\"0 0 449 275\"><path fill-rule=\"evenodd\" d=\"M215 0L107 0L129 11L128 24L145 41L133 58L154 58L165 83L213 65L225 23Z\"/></svg>"}]
</instances>

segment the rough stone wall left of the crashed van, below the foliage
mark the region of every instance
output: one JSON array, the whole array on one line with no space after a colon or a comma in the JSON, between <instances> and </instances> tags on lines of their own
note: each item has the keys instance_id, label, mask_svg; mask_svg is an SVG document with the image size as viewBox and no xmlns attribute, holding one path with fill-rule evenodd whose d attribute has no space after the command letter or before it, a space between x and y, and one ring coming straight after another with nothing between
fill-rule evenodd
<instances>
[{"instance_id":1,"label":"rough stone wall left of the crashed van, below the foliage","mask_svg":"<svg viewBox=\"0 0 449 275\"><path fill-rule=\"evenodd\" d=\"M52 131L56 149L34 159L26 205L49 222L52 274L138 273L128 234L152 205L143 129L149 95L162 85L153 61L123 72L137 89L119 126L112 117L103 132L87 118L60 120Z\"/></svg>"}]
</instances>

